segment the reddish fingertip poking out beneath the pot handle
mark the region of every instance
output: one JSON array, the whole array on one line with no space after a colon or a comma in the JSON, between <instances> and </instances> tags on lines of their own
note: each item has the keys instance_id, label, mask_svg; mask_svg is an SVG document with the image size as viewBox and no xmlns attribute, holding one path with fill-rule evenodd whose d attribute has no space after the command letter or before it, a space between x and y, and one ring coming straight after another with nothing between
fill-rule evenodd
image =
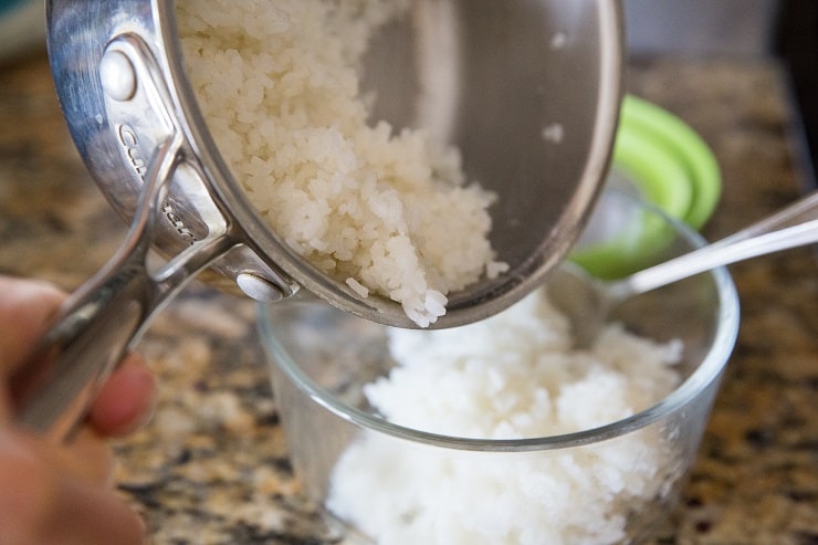
<instances>
[{"instance_id":1,"label":"reddish fingertip poking out beneath the pot handle","mask_svg":"<svg viewBox=\"0 0 818 545\"><path fill-rule=\"evenodd\" d=\"M133 433L148 422L157 397L156 377L140 356L132 354L103 385L88 423L102 436Z\"/></svg>"}]
</instances>

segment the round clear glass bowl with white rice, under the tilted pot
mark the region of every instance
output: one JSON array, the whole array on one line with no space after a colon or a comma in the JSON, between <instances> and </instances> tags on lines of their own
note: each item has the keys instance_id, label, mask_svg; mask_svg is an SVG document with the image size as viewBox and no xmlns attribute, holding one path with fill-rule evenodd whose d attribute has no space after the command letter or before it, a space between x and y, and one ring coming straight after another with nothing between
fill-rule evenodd
<instances>
[{"instance_id":1,"label":"round clear glass bowl with white rice, under the tilted pot","mask_svg":"<svg viewBox=\"0 0 818 545\"><path fill-rule=\"evenodd\" d=\"M702 243L606 190L576 254L625 273ZM259 306L294 469L345 543L639 543L668 515L735 344L728 273L635 298L590 350L545 292L436 332Z\"/></svg>"}]
</instances>

